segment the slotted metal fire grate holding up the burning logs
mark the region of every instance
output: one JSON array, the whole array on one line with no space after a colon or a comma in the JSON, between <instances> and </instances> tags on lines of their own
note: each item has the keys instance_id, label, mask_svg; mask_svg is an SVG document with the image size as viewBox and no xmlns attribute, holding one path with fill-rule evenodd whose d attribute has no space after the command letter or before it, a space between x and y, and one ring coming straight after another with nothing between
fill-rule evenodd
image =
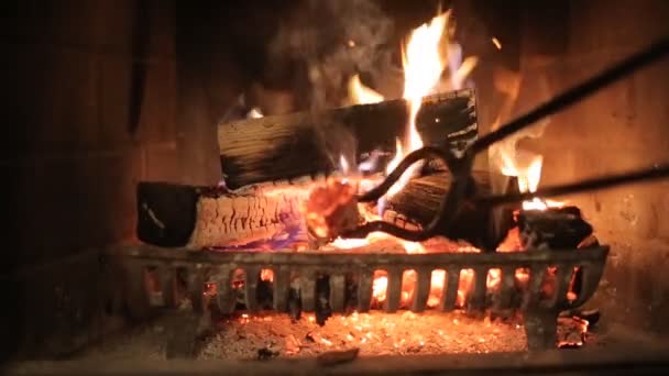
<instances>
[{"instance_id":1,"label":"slotted metal fire grate holding up the burning logs","mask_svg":"<svg viewBox=\"0 0 669 376\"><path fill-rule=\"evenodd\" d=\"M369 311L375 270L387 273L387 290L384 310L399 309L404 270L416 270L416 286L410 310L420 312L427 308L431 272L446 270L445 289L438 306L443 311L456 309L460 272L472 269L473 286L464 307L470 312L522 311L525 318L528 349L540 350L556 344L557 316L560 311L582 306L595 291L604 268L607 246L564 251L529 251L517 253L435 253L435 254L382 254L382 253L329 253L329 252L210 252L185 248L134 246L123 250L128 273L128 299L131 306L146 307L151 287L146 273L151 270L161 286L162 305L175 307L177 300L177 273L185 273L187 294L194 311L202 313L206 283L217 285L216 300L222 313L232 313L238 291L232 287L232 274L242 269L245 275L243 301L250 311L261 309L257 297L261 269L274 272L273 309L287 312L290 300L297 299L300 309L310 312L320 299L327 299L333 312L344 312L351 301L360 312ZM546 296L548 268L556 268L551 278L553 294ZM491 291L486 286L490 269L501 270L500 288ZM515 272L529 270L527 288L518 290ZM577 298L568 299L574 273L580 274ZM328 281L322 287L317 280ZM351 283L351 278L353 283ZM353 291L350 287L354 286Z\"/></svg>"}]
</instances>

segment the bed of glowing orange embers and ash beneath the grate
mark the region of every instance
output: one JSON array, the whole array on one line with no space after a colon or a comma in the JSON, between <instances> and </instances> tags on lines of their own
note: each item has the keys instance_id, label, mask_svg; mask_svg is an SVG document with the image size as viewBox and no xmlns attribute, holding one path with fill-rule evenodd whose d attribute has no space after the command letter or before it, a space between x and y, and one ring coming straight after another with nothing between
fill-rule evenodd
<instances>
[{"instance_id":1,"label":"bed of glowing orange embers and ash beneath the grate","mask_svg":"<svg viewBox=\"0 0 669 376\"><path fill-rule=\"evenodd\" d=\"M266 321L266 317L273 320ZM350 349L360 349L362 356L520 352L526 350L526 338L517 319L486 319L482 323L462 312L373 312L334 314L320 327L311 313L298 320L256 313L244 322L240 318L224 319L224 329L205 342L200 356L253 360L257 349L268 344L278 356L289 357ZM559 346L575 347L585 338L596 342L596 334L585 330L586 323L580 318L560 318Z\"/></svg>"}]
</instances>

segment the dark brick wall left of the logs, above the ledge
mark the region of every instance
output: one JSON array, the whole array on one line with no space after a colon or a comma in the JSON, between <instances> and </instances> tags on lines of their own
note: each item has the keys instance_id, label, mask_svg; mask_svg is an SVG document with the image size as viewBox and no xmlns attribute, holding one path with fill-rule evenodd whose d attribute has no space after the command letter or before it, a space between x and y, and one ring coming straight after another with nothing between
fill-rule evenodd
<instances>
[{"instance_id":1,"label":"dark brick wall left of the logs, above the ledge","mask_svg":"<svg viewBox=\"0 0 669 376\"><path fill-rule=\"evenodd\" d=\"M10 15L0 26L0 169L11 222L3 239L15 250L3 266L131 240L135 183L179 175L174 4L66 0L1 7ZM136 56L140 22L149 36ZM138 66L145 69L145 87L133 129Z\"/></svg>"}]
</instances>

